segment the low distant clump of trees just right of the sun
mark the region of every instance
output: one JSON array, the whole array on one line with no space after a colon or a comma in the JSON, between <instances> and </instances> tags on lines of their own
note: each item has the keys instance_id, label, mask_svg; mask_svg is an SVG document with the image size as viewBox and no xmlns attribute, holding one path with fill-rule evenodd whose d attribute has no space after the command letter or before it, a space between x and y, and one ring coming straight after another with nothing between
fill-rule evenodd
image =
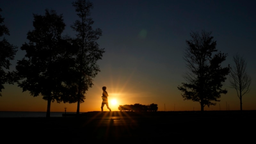
<instances>
[{"instance_id":1,"label":"low distant clump of trees just right of the sun","mask_svg":"<svg viewBox=\"0 0 256 144\"><path fill-rule=\"evenodd\" d=\"M157 104L142 105L135 103L134 105L119 105L118 109L120 111L157 111Z\"/></svg>"}]
</instances>

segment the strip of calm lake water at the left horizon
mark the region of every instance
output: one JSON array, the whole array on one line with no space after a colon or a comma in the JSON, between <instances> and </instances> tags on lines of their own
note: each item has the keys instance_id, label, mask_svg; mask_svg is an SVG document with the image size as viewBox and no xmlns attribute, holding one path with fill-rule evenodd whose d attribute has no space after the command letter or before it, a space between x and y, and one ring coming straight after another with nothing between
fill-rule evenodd
<instances>
[{"instance_id":1,"label":"strip of calm lake water at the left horizon","mask_svg":"<svg viewBox=\"0 0 256 144\"><path fill-rule=\"evenodd\" d=\"M51 112L51 117L62 117L65 112ZM75 114L76 112L67 112ZM46 117L46 112L27 112L27 111L0 111L0 117Z\"/></svg>"}]
</instances>

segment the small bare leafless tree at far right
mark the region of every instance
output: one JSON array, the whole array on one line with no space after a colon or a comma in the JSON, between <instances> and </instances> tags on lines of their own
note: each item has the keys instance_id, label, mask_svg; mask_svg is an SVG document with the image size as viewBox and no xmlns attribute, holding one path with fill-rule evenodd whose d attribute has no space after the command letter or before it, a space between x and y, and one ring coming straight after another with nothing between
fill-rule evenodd
<instances>
[{"instance_id":1,"label":"small bare leafless tree at far right","mask_svg":"<svg viewBox=\"0 0 256 144\"><path fill-rule=\"evenodd\" d=\"M233 57L235 66L230 71L231 87L236 89L237 96L240 100L240 110L242 109L242 96L248 93L252 78L246 72L246 65L244 58L236 54Z\"/></svg>"}]
</instances>

